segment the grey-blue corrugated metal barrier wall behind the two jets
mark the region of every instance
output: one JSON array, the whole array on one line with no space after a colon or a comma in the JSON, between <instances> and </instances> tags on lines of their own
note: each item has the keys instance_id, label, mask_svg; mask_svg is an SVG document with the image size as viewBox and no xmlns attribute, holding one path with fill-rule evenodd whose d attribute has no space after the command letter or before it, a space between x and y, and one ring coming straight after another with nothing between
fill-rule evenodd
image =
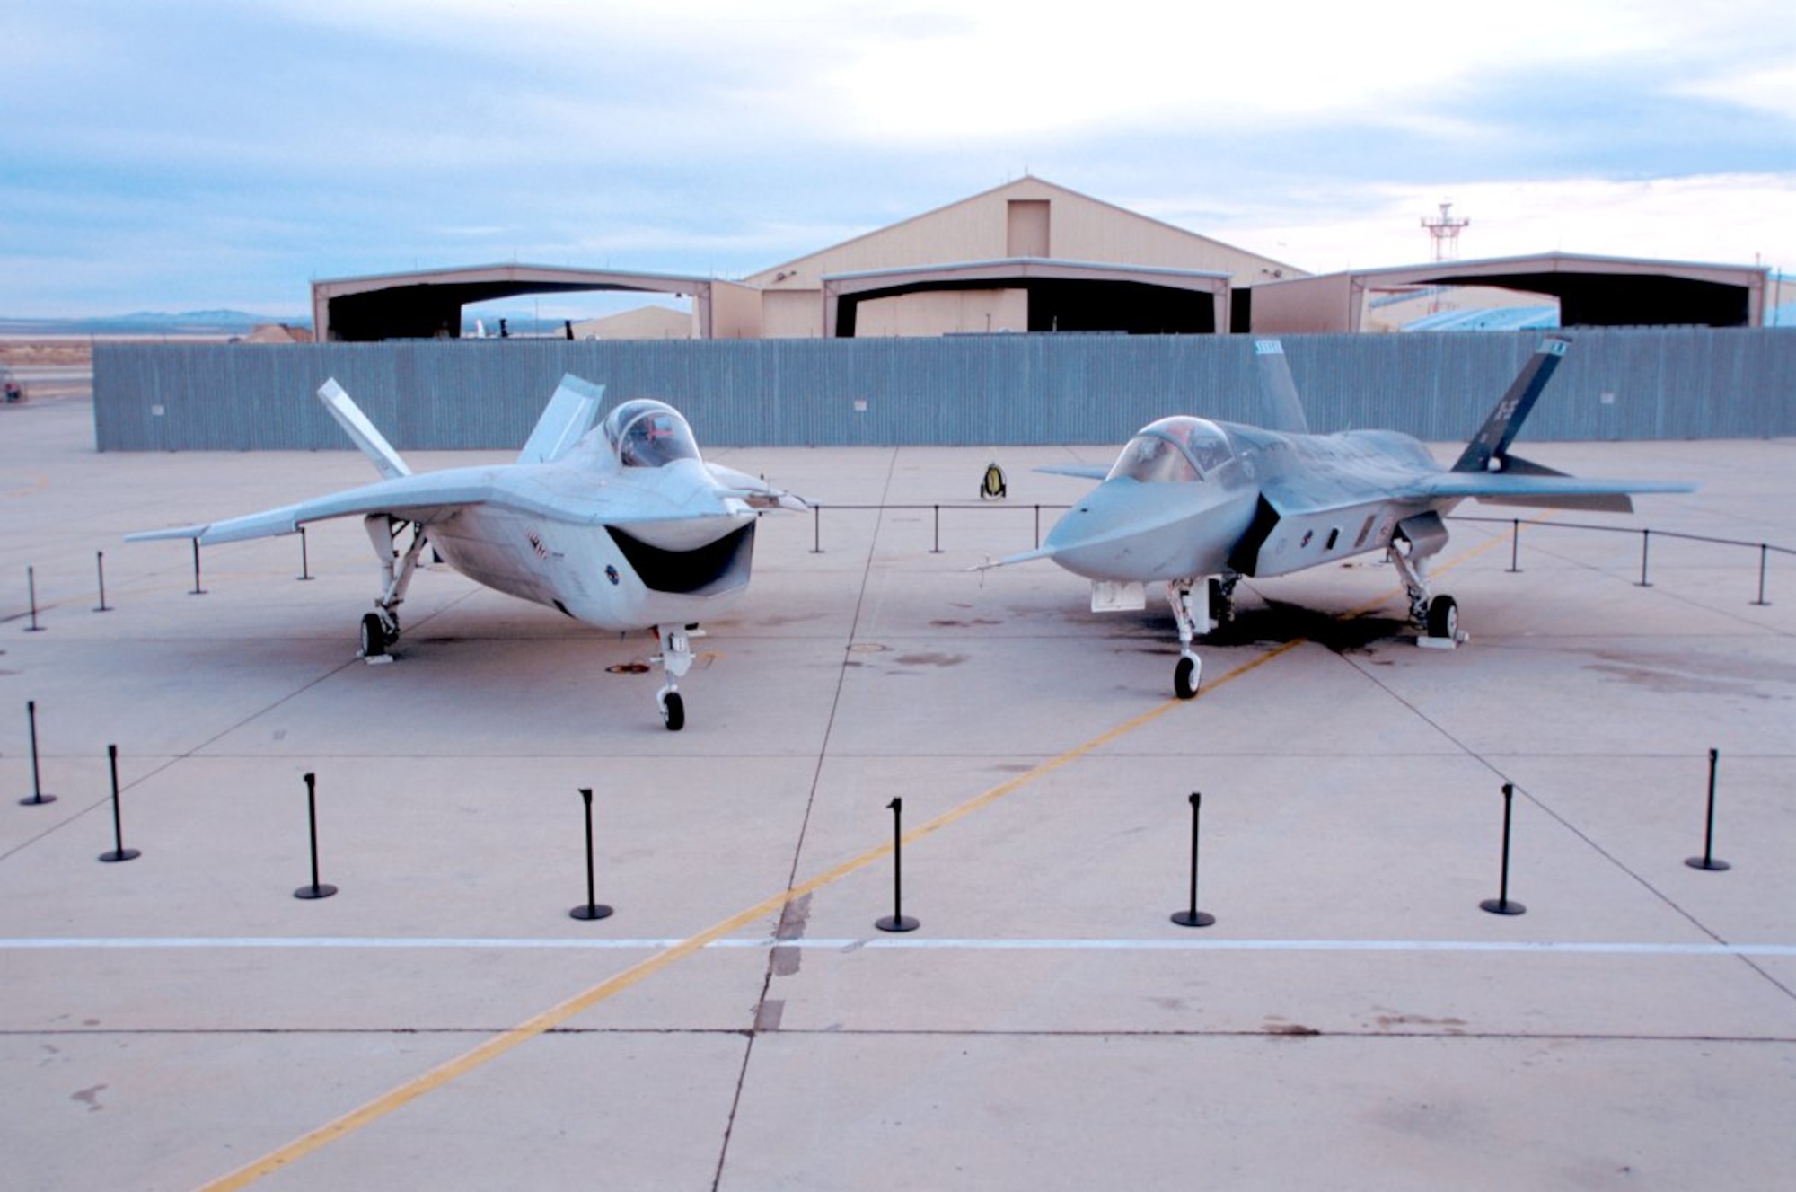
<instances>
[{"instance_id":1,"label":"grey-blue corrugated metal barrier wall behind the two jets","mask_svg":"<svg viewBox=\"0 0 1796 1192\"><path fill-rule=\"evenodd\" d=\"M1534 440L1796 434L1796 330L1577 330ZM1286 336L1315 431L1469 438L1541 332ZM700 445L1121 443L1171 413L1257 422L1250 336L113 345L101 451L305 451L347 440L339 384L399 449L517 447L562 373L607 408L659 397Z\"/></svg>"}]
</instances>

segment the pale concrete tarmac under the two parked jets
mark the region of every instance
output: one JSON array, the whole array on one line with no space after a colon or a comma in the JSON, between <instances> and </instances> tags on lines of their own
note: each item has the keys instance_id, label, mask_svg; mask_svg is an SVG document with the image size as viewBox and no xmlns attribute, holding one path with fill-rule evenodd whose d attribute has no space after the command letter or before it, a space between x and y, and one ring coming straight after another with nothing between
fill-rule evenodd
<instances>
[{"instance_id":1,"label":"pale concrete tarmac under the two parked jets","mask_svg":"<svg viewBox=\"0 0 1796 1192\"><path fill-rule=\"evenodd\" d=\"M352 451L102 456L81 400L0 411L5 1181L1780 1187L1796 558L1640 531L1796 546L1796 442L1530 443L1703 488L1519 542L1462 506L1457 652L1370 557L1243 582L1191 702L1158 607L970 571L1087 488L1031 467L1114 449L711 452L826 508L763 521L672 734L647 634L447 569L357 661L354 521L207 549L201 594L185 542L120 542L374 479ZM1710 749L1724 872L1685 863ZM1480 908L1505 783L1518 916ZM1207 928L1169 921L1193 792Z\"/></svg>"}]
</instances>

